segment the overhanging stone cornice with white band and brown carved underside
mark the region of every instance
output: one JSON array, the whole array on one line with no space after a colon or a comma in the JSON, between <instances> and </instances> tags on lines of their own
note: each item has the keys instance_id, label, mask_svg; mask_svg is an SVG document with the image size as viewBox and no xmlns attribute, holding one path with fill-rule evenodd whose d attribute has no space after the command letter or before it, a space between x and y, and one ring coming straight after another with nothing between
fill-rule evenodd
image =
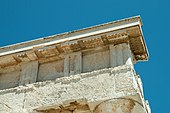
<instances>
[{"instance_id":1,"label":"overhanging stone cornice with white band and brown carved underside","mask_svg":"<svg viewBox=\"0 0 170 113\"><path fill-rule=\"evenodd\" d=\"M22 61L62 58L62 54L110 44L129 43L136 61L148 60L140 16L113 21L0 48L0 66ZM7 60L8 58L8 60Z\"/></svg>"}]
</instances>

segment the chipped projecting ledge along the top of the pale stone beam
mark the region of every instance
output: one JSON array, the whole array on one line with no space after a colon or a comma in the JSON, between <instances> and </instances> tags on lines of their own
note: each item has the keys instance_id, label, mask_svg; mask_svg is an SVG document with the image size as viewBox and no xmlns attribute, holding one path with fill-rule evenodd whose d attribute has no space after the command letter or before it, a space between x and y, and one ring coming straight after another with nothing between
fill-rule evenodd
<instances>
[{"instance_id":1,"label":"chipped projecting ledge along the top of the pale stone beam","mask_svg":"<svg viewBox=\"0 0 170 113\"><path fill-rule=\"evenodd\" d=\"M80 81L83 78L93 77L93 76L97 76L97 75L103 74L103 73L111 73L111 74L115 75L115 74L119 74L119 73L122 73L122 72L130 71L130 70L132 70L132 71L134 70L131 65L117 66L117 67L114 67L114 68L105 68L105 69L95 70L95 71L92 71L92 72L81 73L81 74L77 74L77 75L71 75L69 77L61 77L61 78L57 78L55 80L36 82L36 83L33 83L33 84L26 84L26 85L21 85L21 86L14 87L14 88L3 89L3 90L0 90L0 95L6 94L6 93L13 93L13 92L15 92L16 94L25 93L25 92L33 91L36 88L48 85L50 83L69 84L71 82Z\"/></svg>"}]
</instances>

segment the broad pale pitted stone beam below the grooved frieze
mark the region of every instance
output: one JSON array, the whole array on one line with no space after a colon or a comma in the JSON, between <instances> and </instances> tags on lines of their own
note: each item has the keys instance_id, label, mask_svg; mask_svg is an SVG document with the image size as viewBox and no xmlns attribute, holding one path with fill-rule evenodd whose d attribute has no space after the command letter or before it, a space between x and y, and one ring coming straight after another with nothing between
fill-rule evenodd
<instances>
[{"instance_id":1,"label":"broad pale pitted stone beam below the grooved frieze","mask_svg":"<svg viewBox=\"0 0 170 113\"><path fill-rule=\"evenodd\" d=\"M128 80L118 83L116 80L119 78L128 78ZM140 92L136 87L137 83L133 80L133 69L131 66L124 65L57 78L55 81L39 82L23 87L1 90L0 103L9 106L11 113L22 110L25 110L23 113L32 113L34 109L60 106L68 100L86 99L87 103L95 106L95 103L104 100L138 95ZM129 81L133 81L130 83L132 85L129 84ZM117 90L117 88L121 90Z\"/></svg>"}]
</instances>

